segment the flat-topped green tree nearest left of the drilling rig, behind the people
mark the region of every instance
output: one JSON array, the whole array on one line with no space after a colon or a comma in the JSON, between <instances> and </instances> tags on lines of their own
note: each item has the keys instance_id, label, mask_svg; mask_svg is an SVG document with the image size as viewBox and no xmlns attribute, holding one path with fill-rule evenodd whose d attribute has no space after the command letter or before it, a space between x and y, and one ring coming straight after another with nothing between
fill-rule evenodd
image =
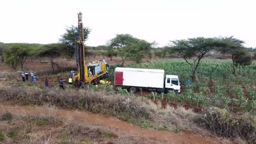
<instances>
[{"instance_id":1,"label":"flat-topped green tree nearest left of the drilling rig, behind the people","mask_svg":"<svg viewBox=\"0 0 256 144\"><path fill-rule=\"evenodd\" d=\"M48 44L42 47L42 50L39 51L38 55L40 57L48 57L50 59L51 68L55 70L56 63L54 59L61 56L63 47L66 47L64 44Z\"/></svg>"}]
</instances>

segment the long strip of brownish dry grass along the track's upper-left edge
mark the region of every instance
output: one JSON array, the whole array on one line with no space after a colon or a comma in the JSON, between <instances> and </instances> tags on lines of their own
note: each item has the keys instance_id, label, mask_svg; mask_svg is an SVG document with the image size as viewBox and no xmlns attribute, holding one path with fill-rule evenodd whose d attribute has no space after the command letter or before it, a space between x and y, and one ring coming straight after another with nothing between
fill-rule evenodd
<instances>
[{"instance_id":1,"label":"long strip of brownish dry grass along the track's upper-left edge","mask_svg":"<svg viewBox=\"0 0 256 144\"><path fill-rule=\"evenodd\" d=\"M2 88L0 94L0 101L13 101L22 105L54 105L63 109L80 109L109 116L121 116L121 119L124 114L128 114L130 119L150 119L150 112L136 97L120 97L104 91L17 87Z\"/></svg>"}]
</instances>

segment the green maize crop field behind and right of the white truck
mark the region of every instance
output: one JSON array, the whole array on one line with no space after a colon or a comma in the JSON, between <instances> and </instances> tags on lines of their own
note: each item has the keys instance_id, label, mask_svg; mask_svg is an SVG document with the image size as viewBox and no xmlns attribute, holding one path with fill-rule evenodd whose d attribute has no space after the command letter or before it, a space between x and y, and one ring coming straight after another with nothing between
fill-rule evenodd
<instances>
[{"instance_id":1,"label":"green maize crop field behind and right of the white truck","mask_svg":"<svg viewBox=\"0 0 256 144\"><path fill-rule=\"evenodd\" d=\"M114 75L111 66L110 77ZM181 94L159 94L152 92L153 100L166 100L167 103L189 105L194 107L216 106L232 112L256 111L256 63L245 67L237 67L236 75L232 75L230 59L203 59L197 69L197 79L190 79L190 66L183 59L169 59L142 65L126 65L130 68L164 69L165 74L178 75L184 83Z\"/></svg>"}]
</instances>

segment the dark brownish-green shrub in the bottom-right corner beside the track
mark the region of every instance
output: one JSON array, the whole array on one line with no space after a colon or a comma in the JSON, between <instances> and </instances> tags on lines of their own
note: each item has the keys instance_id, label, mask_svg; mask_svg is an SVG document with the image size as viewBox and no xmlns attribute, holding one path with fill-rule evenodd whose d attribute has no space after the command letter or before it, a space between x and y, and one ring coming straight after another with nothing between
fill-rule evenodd
<instances>
[{"instance_id":1,"label":"dark brownish-green shrub in the bottom-right corner beside the track","mask_svg":"<svg viewBox=\"0 0 256 144\"><path fill-rule=\"evenodd\" d=\"M224 137L241 137L248 142L256 143L256 117L236 115L225 109L211 107L201 118L201 122L212 133Z\"/></svg>"}]
</instances>

